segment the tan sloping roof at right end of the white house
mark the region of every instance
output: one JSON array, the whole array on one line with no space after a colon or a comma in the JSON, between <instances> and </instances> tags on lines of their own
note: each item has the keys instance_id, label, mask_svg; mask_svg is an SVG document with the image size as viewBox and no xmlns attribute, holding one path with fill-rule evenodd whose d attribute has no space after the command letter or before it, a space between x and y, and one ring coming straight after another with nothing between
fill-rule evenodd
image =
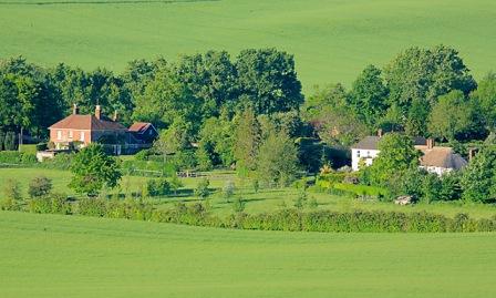
<instances>
[{"instance_id":1,"label":"tan sloping roof at right end of the white house","mask_svg":"<svg viewBox=\"0 0 496 298\"><path fill-rule=\"evenodd\" d=\"M428 148L427 146L415 146L415 148L424 154L421 157L422 166L461 169L467 165L467 161L455 153L452 147L434 146Z\"/></svg>"}]
</instances>

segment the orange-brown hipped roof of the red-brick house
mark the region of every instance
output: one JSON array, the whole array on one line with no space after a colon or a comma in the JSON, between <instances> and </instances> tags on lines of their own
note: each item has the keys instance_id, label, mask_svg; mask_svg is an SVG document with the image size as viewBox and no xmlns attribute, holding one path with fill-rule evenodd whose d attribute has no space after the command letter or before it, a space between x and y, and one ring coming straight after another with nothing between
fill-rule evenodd
<instances>
[{"instance_id":1,"label":"orange-brown hipped roof of the red-brick house","mask_svg":"<svg viewBox=\"0 0 496 298\"><path fill-rule=\"evenodd\" d=\"M105 116L97 119L94 115L72 114L49 127L50 130L91 130L91 131L126 131L127 129L118 122Z\"/></svg>"}]
</instances>

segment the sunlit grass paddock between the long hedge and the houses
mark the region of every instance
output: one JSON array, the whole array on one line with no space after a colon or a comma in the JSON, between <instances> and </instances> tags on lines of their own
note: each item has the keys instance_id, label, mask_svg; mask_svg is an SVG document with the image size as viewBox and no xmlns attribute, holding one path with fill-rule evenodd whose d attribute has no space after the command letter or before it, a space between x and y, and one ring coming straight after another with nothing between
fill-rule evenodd
<instances>
[{"instance_id":1,"label":"sunlit grass paddock between the long hedge and the houses","mask_svg":"<svg viewBox=\"0 0 496 298\"><path fill-rule=\"evenodd\" d=\"M54 192L62 192L69 195L74 195L74 193L69 189L68 184L71 179L71 174L64 171L56 169L41 169L41 168L1 168L0 169L0 185L3 185L8 179L16 179L21 186L21 191L24 197L28 196L28 185L29 182L37 176L46 176L53 181ZM236 184L235 196L242 197L246 202L247 213L261 213L261 212L272 212L280 208L290 208L293 206L294 201L299 195L299 191L293 187L287 188L272 188L272 189L260 189L255 193L249 183L245 182L245 187L241 187L241 182L236 177L234 173L225 172L213 172L209 173L210 176L210 187L215 192L210 198L211 212L226 216L232 213L232 199L231 202L226 202L220 189L225 185L225 182L231 179ZM128 182L127 182L128 179ZM124 177L122 185L128 183L131 192L137 192L141 185L146 183L145 177ZM152 198L151 201L156 204L157 208L172 208L174 203L177 201L183 201L186 203L197 202L198 198L193 195L193 189L196 187L199 178L184 178L184 187L180 191L183 195L177 197L162 197ZM124 186L121 187L121 192L124 192ZM0 189L1 191L1 189ZM113 191L113 193L118 192ZM329 195L324 193L309 192L308 197L314 198L318 203L318 209L332 209L339 212L352 212L355 209L364 210L396 210L396 212L422 212L427 210L432 213L444 214L446 216L453 217L458 213L467 213L476 218L489 218L496 215L495 205L482 205L474 204L467 205L462 203L436 203L436 204L416 204L413 206L397 206L392 203L381 203L376 201L359 201L348 196L337 196Z\"/></svg>"}]
</instances>

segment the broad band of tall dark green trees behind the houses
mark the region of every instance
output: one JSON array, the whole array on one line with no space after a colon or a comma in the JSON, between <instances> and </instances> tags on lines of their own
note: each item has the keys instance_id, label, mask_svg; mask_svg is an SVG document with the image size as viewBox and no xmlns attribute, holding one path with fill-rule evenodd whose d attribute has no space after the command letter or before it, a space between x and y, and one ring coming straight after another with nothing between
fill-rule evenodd
<instances>
[{"instance_id":1,"label":"broad band of tall dark green trees behind the houses","mask_svg":"<svg viewBox=\"0 0 496 298\"><path fill-rule=\"evenodd\" d=\"M163 130L159 152L198 143L205 167L235 161L252 167L270 131L329 146L349 146L378 129L450 143L484 140L496 129L496 74L477 83L456 50L411 48L382 69L366 66L349 90L320 86L304 100L293 56L276 49L244 50L235 59L209 51L175 62L135 60L122 74L41 68L23 58L0 63L0 134L8 140L21 129L46 137L73 103L82 113L96 104L106 114L118 111L124 124L154 123ZM240 136L246 144L236 148ZM0 142L6 148L7 141Z\"/></svg>"}]
</instances>

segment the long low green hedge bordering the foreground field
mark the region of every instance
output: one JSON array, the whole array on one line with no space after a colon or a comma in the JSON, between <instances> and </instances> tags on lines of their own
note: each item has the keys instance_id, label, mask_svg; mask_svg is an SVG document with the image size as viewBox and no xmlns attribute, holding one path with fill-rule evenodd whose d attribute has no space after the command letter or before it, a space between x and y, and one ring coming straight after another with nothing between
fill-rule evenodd
<instances>
[{"instance_id":1,"label":"long low green hedge bordering the foreground field","mask_svg":"<svg viewBox=\"0 0 496 298\"><path fill-rule=\"evenodd\" d=\"M19 202L2 202L2 209L22 209ZM496 216L475 219L466 214L453 218L432 213L399 212L300 212L282 209L273 213L236 213L227 217L211 215L203 203L178 203L172 209L155 209L138 199L84 198L69 203L60 196L32 199L27 210L34 213L79 214L85 216L127 218L194 226L259 230L333 232L333 233L446 233L496 232Z\"/></svg>"}]
</instances>

